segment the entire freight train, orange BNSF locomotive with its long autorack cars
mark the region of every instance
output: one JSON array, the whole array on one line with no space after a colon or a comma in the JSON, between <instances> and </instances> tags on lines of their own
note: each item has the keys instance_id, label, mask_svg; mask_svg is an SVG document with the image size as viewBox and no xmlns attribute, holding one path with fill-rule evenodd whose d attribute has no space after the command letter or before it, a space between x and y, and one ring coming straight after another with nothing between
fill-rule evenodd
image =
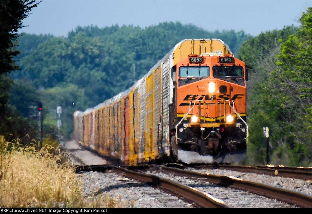
<instances>
[{"instance_id":1,"label":"entire freight train, orange BNSF locomotive with its long autorack cars","mask_svg":"<svg viewBox=\"0 0 312 214\"><path fill-rule=\"evenodd\" d=\"M186 39L132 87L74 113L74 136L136 165L246 159L246 64L220 39Z\"/></svg>"}]
</instances>

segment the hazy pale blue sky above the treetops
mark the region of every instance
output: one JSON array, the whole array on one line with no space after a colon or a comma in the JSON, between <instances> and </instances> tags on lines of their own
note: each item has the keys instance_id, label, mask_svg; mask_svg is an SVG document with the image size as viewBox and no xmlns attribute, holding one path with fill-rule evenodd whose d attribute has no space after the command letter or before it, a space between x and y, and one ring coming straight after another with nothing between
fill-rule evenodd
<instances>
[{"instance_id":1,"label":"hazy pale blue sky above the treetops","mask_svg":"<svg viewBox=\"0 0 312 214\"><path fill-rule=\"evenodd\" d=\"M24 21L19 32L67 36L78 25L100 28L119 26L151 26L159 22L192 23L208 31L244 30L258 35L261 31L298 26L298 18L312 1L299 0L43 0Z\"/></svg>"}]
</instances>

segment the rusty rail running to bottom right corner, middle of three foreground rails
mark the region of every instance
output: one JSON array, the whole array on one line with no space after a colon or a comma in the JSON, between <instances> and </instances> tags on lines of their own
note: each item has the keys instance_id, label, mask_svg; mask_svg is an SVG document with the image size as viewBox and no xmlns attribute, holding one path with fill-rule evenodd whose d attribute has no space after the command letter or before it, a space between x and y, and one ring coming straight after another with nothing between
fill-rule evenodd
<instances>
[{"instance_id":1,"label":"rusty rail running to bottom right corner, middle of three foreground rails","mask_svg":"<svg viewBox=\"0 0 312 214\"><path fill-rule=\"evenodd\" d=\"M232 176L228 177L223 175L204 174L166 166L160 166L160 168L162 168L165 173L175 173L186 177L203 178L211 183L219 183L222 185L232 186L256 194L264 195L266 197L285 201L287 203L297 204L301 207L312 207L312 196L308 194L299 193L279 187L273 187L262 183L247 181Z\"/></svg>"}]
</instances>

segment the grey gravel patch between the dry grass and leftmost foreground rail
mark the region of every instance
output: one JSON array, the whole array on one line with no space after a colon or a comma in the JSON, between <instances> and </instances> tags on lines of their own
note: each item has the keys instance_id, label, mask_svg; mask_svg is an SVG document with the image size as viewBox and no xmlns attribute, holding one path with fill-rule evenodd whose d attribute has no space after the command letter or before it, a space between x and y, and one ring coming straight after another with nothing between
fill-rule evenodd
<instances>
[{"instance_id":1,"label":"grey gravel patch between the dry grass and leftmost foreground rail","mask_svg":"<svg viewBox=\"0 0 312 214\"><path fill-rule=\"evenodd\" d=\"M85 198L102 194L134 208L194 207L176 196L114 172L87 172L78 176L84 182Z\"/></svg>"}]
</instances>

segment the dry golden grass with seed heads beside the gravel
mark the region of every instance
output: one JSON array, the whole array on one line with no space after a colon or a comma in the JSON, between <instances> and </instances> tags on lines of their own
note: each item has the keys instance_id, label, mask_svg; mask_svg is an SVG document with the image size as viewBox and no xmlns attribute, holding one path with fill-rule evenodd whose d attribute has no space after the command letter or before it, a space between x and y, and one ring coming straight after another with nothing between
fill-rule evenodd
<instances>
[{"instance_id":1,"label":"dry golden grass with seed heads beside the gravel","mask_svg":"<svg viewBox=\"0 0 312 214\"><path fill-rule=\"evenodd\" d=\"M85 200L67 157L51 145L38 151L0 136L0 207L124 207L111 197Z\"/></svg>"}]
</instances>

